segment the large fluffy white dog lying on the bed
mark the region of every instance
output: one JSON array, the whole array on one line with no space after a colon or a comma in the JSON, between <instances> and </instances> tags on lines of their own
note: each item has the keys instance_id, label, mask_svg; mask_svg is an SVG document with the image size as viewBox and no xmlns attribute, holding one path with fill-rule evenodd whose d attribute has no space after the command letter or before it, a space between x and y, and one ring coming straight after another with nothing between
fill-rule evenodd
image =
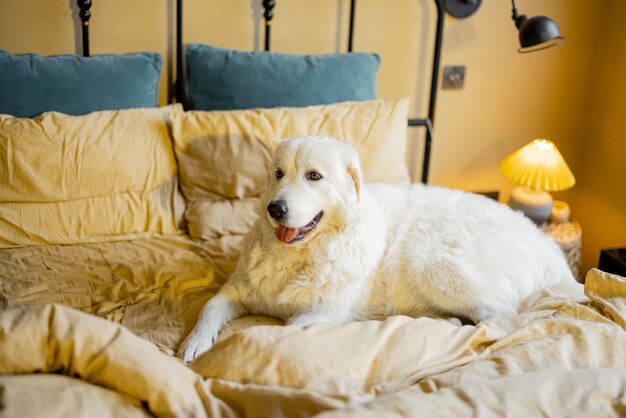
<instances>
[{"instance_id":1,"label":"large fluffy white dog lying on the bed","mask_svg":"<svg viewBox=\"0 0 626 418\"><path fill-rule=\"evenodd\" d=\"M558 246L522 214L461 191L362 184L354 148L294 138L277 147L237 268L179 356L193 360L246 314L300 326L390 315L478 323L573 280Z\"/></svg>"}]
</instances>

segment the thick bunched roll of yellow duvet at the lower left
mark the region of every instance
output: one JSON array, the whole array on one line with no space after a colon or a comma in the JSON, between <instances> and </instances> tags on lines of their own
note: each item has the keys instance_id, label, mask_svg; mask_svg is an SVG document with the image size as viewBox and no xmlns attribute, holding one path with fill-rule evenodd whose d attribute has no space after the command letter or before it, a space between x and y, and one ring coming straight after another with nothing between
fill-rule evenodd
<instances>
[{"instance_id":1,"label":"thick bunched roll of yellow duvet at the lower left","mask_svg":"<svg viewBox=\"0 0 626 418\"><path fill-rule=\"evenodd\" d=\"M157 415L206 416L199 377L126 328L62 305L0 316L0 373L61 372L139 399Z\"/></svg>"}]
</instances>

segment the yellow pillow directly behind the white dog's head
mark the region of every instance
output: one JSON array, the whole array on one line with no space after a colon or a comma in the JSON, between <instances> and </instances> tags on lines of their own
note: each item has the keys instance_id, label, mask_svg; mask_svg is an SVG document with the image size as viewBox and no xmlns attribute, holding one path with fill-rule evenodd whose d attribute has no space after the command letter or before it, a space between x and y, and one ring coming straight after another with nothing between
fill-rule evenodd
<instances>
[{"instance_id":1,"label":"yellow pillow directly behind the white dog's head","mask_svg":"<svg viewBox=\"0 0 626 418\"><path fill-rule=\"evenodd\" d=\"M409 183L407 117L407 99L172 114L190 235L221 239L250 228L272 152L286 138L346 141L360 154L365 181Z\"/></svg>"}]
</instances>

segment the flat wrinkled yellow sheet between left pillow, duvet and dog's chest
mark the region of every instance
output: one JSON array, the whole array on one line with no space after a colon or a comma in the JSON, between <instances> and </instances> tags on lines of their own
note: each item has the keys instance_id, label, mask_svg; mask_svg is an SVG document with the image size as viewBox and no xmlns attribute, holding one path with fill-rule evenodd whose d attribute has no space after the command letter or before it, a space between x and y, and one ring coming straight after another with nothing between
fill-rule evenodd
<instances>
[{"instance_id":1,"label":"flat wrinkled yellow sheet between left pillow, duvet and dog's chest","mask_svg":"<svg viewBox=\"0 0 626 418\"><path fill-rule=\"evenodd\" d=\"M172 353L225 277L188 238L45 245L0 252L0 304L59 303Z\"/></svg>"}]
</instances>

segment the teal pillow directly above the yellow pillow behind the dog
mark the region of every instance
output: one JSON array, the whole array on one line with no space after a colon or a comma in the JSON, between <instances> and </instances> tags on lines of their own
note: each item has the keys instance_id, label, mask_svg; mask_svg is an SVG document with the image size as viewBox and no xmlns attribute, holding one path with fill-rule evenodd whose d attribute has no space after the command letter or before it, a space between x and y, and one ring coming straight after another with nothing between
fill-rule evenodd
<instances>
[{"instance_id":1,"label":"teal pillow directly above the yellow pillow behind the dog","mask_svg":"<svg viewBox=\"0 0 626 418\"><path fill-rule=\"evenodd\" d=\"M185 50L187 108L299 107L376 98L378 55Z\"/></svg>"}]
</instances>

